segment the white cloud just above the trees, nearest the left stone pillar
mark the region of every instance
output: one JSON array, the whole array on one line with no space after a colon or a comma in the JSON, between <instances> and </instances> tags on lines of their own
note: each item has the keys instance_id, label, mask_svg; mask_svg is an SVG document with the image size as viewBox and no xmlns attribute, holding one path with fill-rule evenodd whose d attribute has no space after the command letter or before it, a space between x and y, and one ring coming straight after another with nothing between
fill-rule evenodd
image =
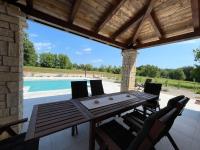
<instances>
[{"instance_id":1,"label":"white cloud just above the trees, nearest the left stone pillar","mask_svg":"<svg viewBox=\"0 0 200 150\"><path fill-rule=\"evenodd\" d=\"M53 48L55 48L55 45L50 42L36 42L36 43L34 43L34 46L35 46L36 50L45 51L45 52L47 52L47 51L49 52Z\"/></svg>"}]
</instances>

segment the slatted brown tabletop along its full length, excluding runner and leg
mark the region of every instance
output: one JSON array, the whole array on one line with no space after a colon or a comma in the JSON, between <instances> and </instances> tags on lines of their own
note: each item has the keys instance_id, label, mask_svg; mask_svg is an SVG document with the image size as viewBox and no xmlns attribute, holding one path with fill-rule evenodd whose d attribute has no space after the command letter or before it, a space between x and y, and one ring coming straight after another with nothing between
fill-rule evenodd
<instances>
[{"instance_id":1,"label":"slatted brown tabletop along its full length, excluding runner and leg","mask_svg":"<svg viewBox=\"0 0 200 150\"><path fill-rule=\"evenodd\" d=\"M129 98L127 101L98 107L92 110L88 110L80 102L117 94L122 94L122 92L35 105L30 118L25 141L44 137L74 125L88 122L92 119L102 119L103 117L108 118L109 115L111 116L117 112L125 112L156 97L155 95L147 93L128 92L127 94L133 94L136 98L131 100Z\"/></svg>"}]
</instances>

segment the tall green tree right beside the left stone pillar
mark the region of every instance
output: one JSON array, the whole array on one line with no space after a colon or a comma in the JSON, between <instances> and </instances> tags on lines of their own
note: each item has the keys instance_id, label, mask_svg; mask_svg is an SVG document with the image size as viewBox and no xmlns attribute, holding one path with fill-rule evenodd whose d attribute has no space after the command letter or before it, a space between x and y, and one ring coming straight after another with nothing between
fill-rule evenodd
<instances>
[{"instance_id":1,"label":"tall green tree right beside the left stone pillar","mask_svg":"<svg viewBox=\"0 0 200 150\"><path fill-rule=\"evenodd\" d=\"M36 66L37 54L33 43L28 38L27 33L24 33L23 48L24 48L24 65Z\"/></svg>"}]
</instances>

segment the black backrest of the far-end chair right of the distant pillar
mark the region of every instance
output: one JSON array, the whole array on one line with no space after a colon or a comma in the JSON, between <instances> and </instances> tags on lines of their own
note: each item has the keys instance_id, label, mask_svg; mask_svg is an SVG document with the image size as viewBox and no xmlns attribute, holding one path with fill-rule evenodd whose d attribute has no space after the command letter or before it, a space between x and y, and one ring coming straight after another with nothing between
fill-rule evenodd
<instances>
[{"instance_id":1,"label":"black backrest of the far-end chair right of the distant pillar","mask_svg":"<svg viewBox=\"0 0 200 150\"><path fill-rule=\"evenodd\" d=\"M160 96L160 91L162 88L162 84L159 83L146 83L144 87L144 92L149 94L154 94Z\"/></svg>"}]
</instances>

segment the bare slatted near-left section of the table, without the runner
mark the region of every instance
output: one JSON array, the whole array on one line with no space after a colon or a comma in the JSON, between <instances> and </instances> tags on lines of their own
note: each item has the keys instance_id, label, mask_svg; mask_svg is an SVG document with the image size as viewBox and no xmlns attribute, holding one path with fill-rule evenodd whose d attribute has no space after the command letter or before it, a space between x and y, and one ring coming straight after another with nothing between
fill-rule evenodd
<instances>
[{"instance_id":1,"label":"bare slatted near-left section of the table, without the runner","mask_svg":"<svg viewBox=\"0 0 200 150\"><path fill-rule=\"evenodd\" d=\"M88 122L90 117L73 100L35 105L25 140L33 140Z\"/></svg>"}]
</instances>

